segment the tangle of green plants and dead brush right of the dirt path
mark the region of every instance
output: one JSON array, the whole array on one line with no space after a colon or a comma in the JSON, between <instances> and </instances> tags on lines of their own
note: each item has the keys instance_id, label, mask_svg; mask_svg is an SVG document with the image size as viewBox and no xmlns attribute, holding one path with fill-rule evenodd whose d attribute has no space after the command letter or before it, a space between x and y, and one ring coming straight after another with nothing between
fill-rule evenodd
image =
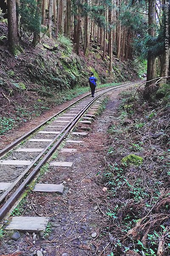
<instances>
[{"instance_id":1,"label":"tangle of green plants and dead brush right of the dirt path","mask_svg":"<svg viewBox=\"0 0 170 256\"><path fill-rule=\"evenodd\" d=\"M132 97L134 93L127 90L120 95L122 104L108 128L102 182L108 196L105 212L111 222L105 232L112 241L110 255L157 256L164 239L161 255L167 256L170 94L166 90L158 99L158 92L145 102L142 94Z\"/></svg>"}]
</instances>

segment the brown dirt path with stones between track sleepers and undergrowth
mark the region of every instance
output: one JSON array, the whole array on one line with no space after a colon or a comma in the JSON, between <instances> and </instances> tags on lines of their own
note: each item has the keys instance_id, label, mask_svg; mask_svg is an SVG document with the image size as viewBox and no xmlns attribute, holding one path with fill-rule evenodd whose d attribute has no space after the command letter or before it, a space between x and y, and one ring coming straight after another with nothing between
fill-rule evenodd
<instances>
[{"instance_id":1,"label":"brown dirt path with stones between track sleepers and undergrowth","mask_svg":"<svg viewBox=\"0 0 170 256\"><path fill-rule=\"evenodd\" d=\"M57 157L57 161L72 161L74 166L69 169L50 167L43 175L42 183L65 184L64 195L47 197L47 194L38 192L28 195L23 215L35 216L36 212L37 215L50 217L51 228L47 236L37 235L35 244L29 233L22 234L18 241L12 241L8 236L1 244L0 254L16 250L21 251L23 256L36 255L37 250L45 251L44 255L49 256L104 256L110 253L107 247L109 241L105 238L108 221L104 214L108 195L97 174L104 168L102 159L107 154L107 129L119 106L118 95L122 90L125 88L113 91L104 113L92 125L92 131L81 138L83 143L70 145L78 151Z\"/></svg>"}]
</instances>

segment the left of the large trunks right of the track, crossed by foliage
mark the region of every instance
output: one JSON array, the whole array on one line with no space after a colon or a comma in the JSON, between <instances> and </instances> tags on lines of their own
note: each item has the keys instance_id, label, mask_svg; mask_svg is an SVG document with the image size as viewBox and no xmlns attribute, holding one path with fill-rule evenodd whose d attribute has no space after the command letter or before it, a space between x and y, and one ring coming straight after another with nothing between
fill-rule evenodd
<instances>
[{"instance_id":1,"label":"left of the large trunks right of the track, crossed by foliage","mask_svg":"<svg viewBox=\"0 0 170 256\"><path fill-rule=\"evenodd\" d=\"M154 26L156 24L156 0L149 0L148 3L148 34L152 37L155 36L155 30ZM147 81L154 79L154 62L155 62L155 57L153 56L153 53L151 51L148 51L147 55ZM148 87L151 82L146 83L146 87ZM145 90L147 91L147 90ZM146 93L146 97L149 97L149 93Z\"/></svg>"}]
</instances>

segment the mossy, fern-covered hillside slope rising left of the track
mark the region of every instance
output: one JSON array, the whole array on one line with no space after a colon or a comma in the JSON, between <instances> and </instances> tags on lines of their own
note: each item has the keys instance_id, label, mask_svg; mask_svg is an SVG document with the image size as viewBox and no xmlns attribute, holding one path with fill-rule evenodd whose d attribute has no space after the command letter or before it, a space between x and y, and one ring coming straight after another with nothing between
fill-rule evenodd
<instances>
[{"instance_id":1,"label":"mossy, fern-covered hillside slope rising left of the track","mask_svg":"<svg viewBox=\"0 0 170 256\"><path fill-rule=\"evenodd\" d=\"M8 51L8 27L0 23L0 134L17 127L33 116L88 90L92 70L99 83L122 82L137 78L130 61L114 59L115 72L110 77L109 60L102 61L99 50L92 49L88 58L74 53L74 45L64 36L57 40L46 35L35 48L25 35L23 53Z\"/></svg>"}]
</instances>

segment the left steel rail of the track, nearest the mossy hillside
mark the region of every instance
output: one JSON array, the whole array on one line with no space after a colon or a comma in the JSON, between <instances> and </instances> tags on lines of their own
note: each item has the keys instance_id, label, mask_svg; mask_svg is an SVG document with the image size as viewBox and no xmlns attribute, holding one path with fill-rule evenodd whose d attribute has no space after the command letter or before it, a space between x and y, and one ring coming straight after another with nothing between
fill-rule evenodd
<instances>
[{"instance_id":1,"label":"left steel rail of the track, nearest the mossy hillside","mask_svg":"<svg viewBox=\"0 0 170 256\"><path fill-rule=\"evenodd\" d=\"M134 83L139 83L141 81L137 81L137 82L133 82L130 84L134 84ZM124 85L129 85L129 84L124 84ZM117 85L119 86L119 85ZM112 88L112 87L116 87L116 86L111 86L111 87L106 87L106 88L102 88L101 90L106 90L107 88ZM99 90L99 91L101 91ZM98 91L98 92L99 92ZM61 111L57 112L56 114L54 114L53 116L49 117L47 120L45 120L44 122L42 122L40 125L37 125L35 128L33 128L31 131L28 131L26 134L24 134L23 136L21 136L20 138L18 138L17 140L15 140L14 142L12 142L11 144L7 145L5 148L3 148L2 150L0 150L0 157L2 157L4 154L6 154L8 151L10 151L12 148L14 148L17 144L19 144L21 141L25 140L27 137L29 137L31 134L33 134L35 131L37 131L39 128L41 128L43 125L45 125L47 122L49 122L51 119L53 119L54 117L58 116L59 114L61 114L62 112L64 112L65 110L67 110L68 108L70 108L71 106L73 106L74 104L76 104L77 102L81 101L82 99L85 99L86 97L90 96L91 94L88 94L86 96L81 97L80 99L78 99L77 101L71 103L68 107L62 109Z\"/></svg>"}]
</instances>

